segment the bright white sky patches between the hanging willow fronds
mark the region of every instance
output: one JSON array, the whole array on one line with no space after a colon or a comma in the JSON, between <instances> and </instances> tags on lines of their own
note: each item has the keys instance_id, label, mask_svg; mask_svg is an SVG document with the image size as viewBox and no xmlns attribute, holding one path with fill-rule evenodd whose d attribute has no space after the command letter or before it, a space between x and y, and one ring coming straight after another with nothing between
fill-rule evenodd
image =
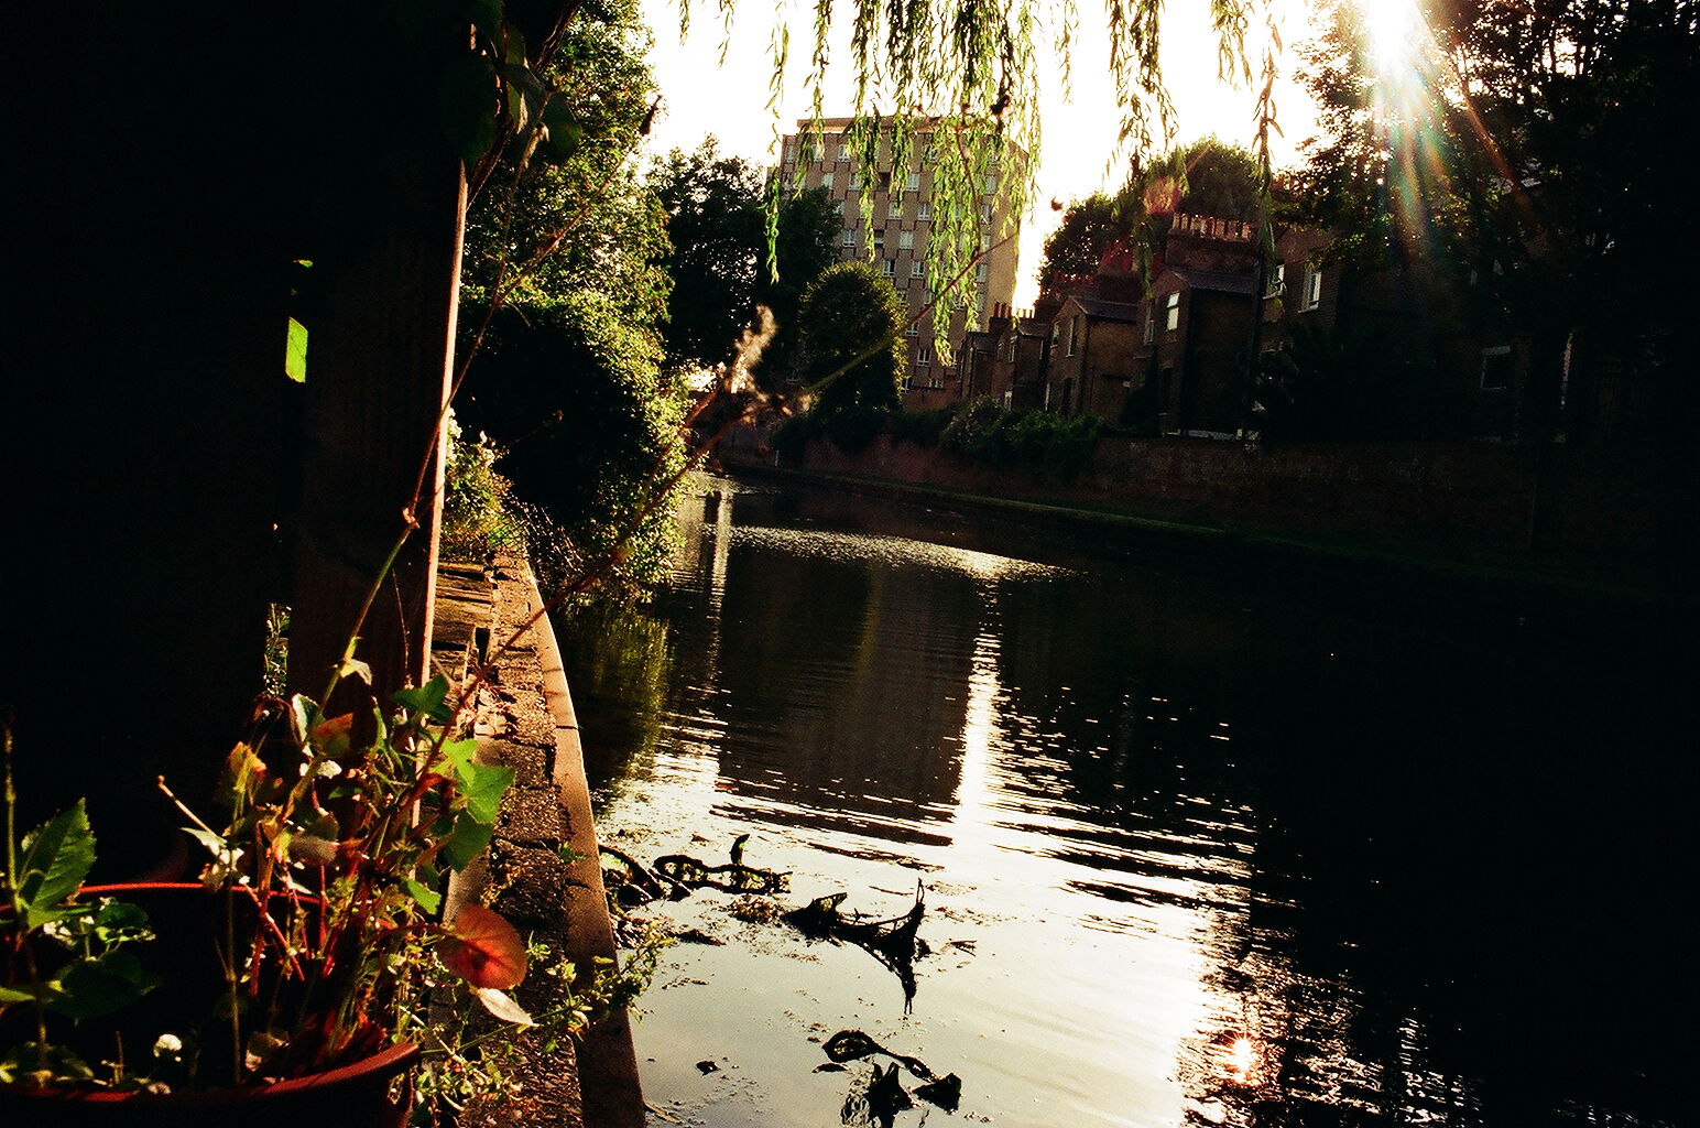
<instances>
[{"instance_id":1,"label":"bright white sky patches between the hanging willow fronds","mask_svg":"<svg viewBox=\"0 0 1700 1128\"><path fill-rule=\"evenodd\" d=\"M1306 0L1272 0L1272 5L1280 20L1282 41L1287 44L1280 60L1284 78L1275 92L1284 131L1275 145L1275 163L1280 167L1294 160L1299 145L1314 131L1309 99L1290 78L1297 65L1294 48L1309 32L1309 5ZM779 0L777 5L746 0L736 5L724 66L719 65L719 56L728 36L717 5L697 0L692 7L690 36L680 44L678 2L643 0L644 19L656 36L649 61L663 97L661 116L649 138L654 151L690 150L712 133L722 153L734 153L762 165L774 163L774 112L767 109L767 87L772 73L768 36L775 7L790 20L787 90L779 107L779 131L790 133L796 121L809 114L802 82L813 41L813 15L799 9L797 0ZM1047 206L1049 201L1068 202L1122 179L1120 165L1108 172L1105 167L1115 145L1119 117L1114 87L1105 73L1102 0L1078 0L1078 7L1080 37L1073 51L1073 99L1064 100L1057 83L1042 92L1044 143L1035 196L1037 213L1022 223L1017 306L1030 306L1037 298L1035 274L1044 240L1061 219ZM1248 44L1261 44L1261 26L1253 26ZM824 105L828 117L840 117L850 111L852 75L845 44L842 39L835 48L835 61L828 68ZM1163 73L1176 105L1176 143L1214 133L1224 141L1250 148L1256 92L1217 82L1216 34L1210 31L1205 0L1170 0L1164 7Z\"/></svg>"}]
</instances>

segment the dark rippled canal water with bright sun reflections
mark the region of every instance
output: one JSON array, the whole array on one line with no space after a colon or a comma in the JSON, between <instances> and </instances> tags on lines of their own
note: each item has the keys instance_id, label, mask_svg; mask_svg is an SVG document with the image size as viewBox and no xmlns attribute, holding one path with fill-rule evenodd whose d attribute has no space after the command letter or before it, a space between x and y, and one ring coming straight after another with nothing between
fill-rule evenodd
<instances>
[{"instance_id":1,"label":"dark rippled canal water with bright sun reflections","mask_svg":"<svg viewBox=\"0 0 1700 1128\"><path fill-rule=\"evenodd\" d=\"M598 827L787 871L639 915L653 1125L1695 1123L1693 662L1090 536L702 480L559 626ZM775 919L923 890L913 977ZM933 1094L937 1096L937 1092Z\"/></svg>"}]
</instances>

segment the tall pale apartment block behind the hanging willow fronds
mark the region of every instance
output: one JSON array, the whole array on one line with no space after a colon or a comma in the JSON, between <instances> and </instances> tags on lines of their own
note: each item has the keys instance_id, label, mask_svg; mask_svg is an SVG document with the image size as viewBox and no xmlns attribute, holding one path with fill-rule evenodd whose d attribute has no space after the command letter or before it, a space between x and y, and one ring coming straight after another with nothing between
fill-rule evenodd
<instances>
[{"instance_id":1,"label":"tall pale apartment block behind the hanging willow fronds","mask_svg":"<svg viewBox=\"0 0 1700 1128\"><path fill-rule=\"evenodd\" d=\"M964 286L964 301L945 303L921 315L928 303L926 242L933 226L933 133L932 122L916 122L906 168L892 167L889 143L881 145L874 168L862 168L853 158L847 131L848 117L826 117L814 136L813 121L799 121L797 131L787 134L780 150L780 177L785 185L824 187L843 216L838 238L842 259L867 259L892 281L903 294L915 320L910 327L910 364L904 379L903 405L908 410L940 407L966 396L962 367L962 339L969 330L984 330L993 310L1008 306L1015 296L1015 259L1020 216L1012 213L1008 177L1022 170L1005 160L981 180L979 223L984 257L974 265ZM1013 145L1012 145L1013 150ZM1017 160L1025 160L1015 150ZM872 221L862 216L864 177L872 182ZM1008 223L1008 226L1005 226ZM1000 238L1000 233L1012 235ZM949 316L947 340L952 345L950 361L933 350L933 315Z\"/></svg>"}]
</instances>

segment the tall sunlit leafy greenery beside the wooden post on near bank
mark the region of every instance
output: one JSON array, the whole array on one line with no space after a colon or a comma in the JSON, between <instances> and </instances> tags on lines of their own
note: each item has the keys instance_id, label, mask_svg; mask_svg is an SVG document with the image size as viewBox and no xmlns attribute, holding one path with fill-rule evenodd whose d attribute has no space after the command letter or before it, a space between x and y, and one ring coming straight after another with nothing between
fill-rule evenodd
<instances>
[{"instance_id":1,"label":"tall sunlit leafy greenery beside the wooden post on near bank","mask_svg":"<svg viewBox=\"0 0 1700 1128\"><path fill-rule=\"evenodd\" d=\"M551 165L508 158L468 216L464 293L500 308L462 316L479 347L459 408L503 451L495 471L541 578L619 558L615 589L660 577L672 544L665 481L682 463L685 390L661 376L670 282L663 209L636 162L653 82L629 0L573 20L547 77L583 145ZM592 143L593 141L593 143Z\"/></svg>"}]
</instances>

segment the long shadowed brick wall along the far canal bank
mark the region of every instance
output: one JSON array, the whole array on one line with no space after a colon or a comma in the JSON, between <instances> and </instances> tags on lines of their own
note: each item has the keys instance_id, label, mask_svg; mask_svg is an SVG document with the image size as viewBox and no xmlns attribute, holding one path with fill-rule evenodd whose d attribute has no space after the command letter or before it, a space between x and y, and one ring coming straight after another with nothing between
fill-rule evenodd
<instances>
[{"instance_id":1,"label":"long shadowed brick wall along the far canal bank","mask_svg":"<svg viewBox=\"0 0 1700 1128\"><path fill-rule=\"evenodd\" d=\"M1661 487L1642 447L1533 447L1486 442L1270 444L1103 439L1091 466L1064 481L988 468L881 437L847 456L809 446L811 470L894 478L1003 497L1114 505L1139 516L1261 533L1343 536L1450 553L1622 560L1639 572L1685 533L1685 502ZM1538 483L1538 488L1537 488ZM1690 498L1692 500L1692 498ZM1661 516L1666 519L1661 521Z\"/></svg>"}]
</instances>

